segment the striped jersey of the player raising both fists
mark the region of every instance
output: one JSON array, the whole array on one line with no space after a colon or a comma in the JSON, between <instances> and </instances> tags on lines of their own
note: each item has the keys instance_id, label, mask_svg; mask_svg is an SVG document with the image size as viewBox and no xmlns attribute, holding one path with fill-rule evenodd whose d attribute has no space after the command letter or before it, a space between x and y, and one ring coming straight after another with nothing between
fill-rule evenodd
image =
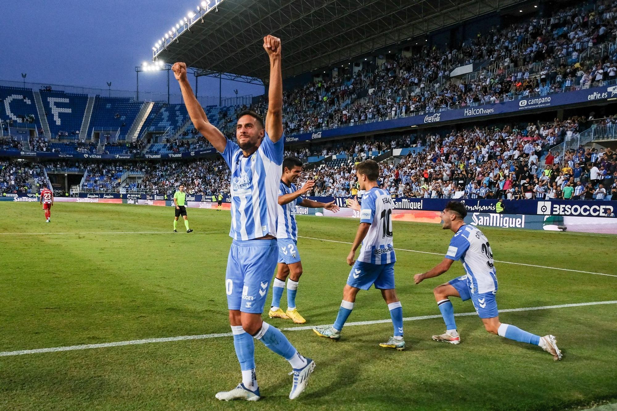
<instances>
[{"instance_id":1,"label":"striped jersey of the player raising both fists","mask_svg":"<svg viewBox=\"0 0 617 411\"><path fill-rule=\"evenodd\" d=\"M284 139L282 136L272 143L265 133L262 144L249 157L244 157L238 144L227 140L221 155L231 170L231 238L276 237L276 194L283 173Z\"/></svg>"}]
</instances>

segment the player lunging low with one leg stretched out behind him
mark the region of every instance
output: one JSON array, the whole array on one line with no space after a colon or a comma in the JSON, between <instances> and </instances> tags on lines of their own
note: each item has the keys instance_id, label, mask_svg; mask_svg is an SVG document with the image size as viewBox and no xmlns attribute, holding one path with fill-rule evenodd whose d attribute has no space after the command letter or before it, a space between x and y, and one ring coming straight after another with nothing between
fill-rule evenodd
<instances>
[{"instance_id":1,"label":"player lunging low with one leg stretched out behind him","mask_svg":"<svg viewBox=\"0 0 617 411\"><path fill-rule=\"evenodd\" d=\"M454 236L441 263L423 274L416 274L413 280L420 284L427 278L433 278L447 272L452 263L460 260L465 268L466 275L455 278L448 283L441 284L433 290L437 306L444 318L446 331L441 335L434 335L436 341L445 341L450 344L460 343L460 336L454 320L454 309L448 297L460 297L463 301L471 299L473 307L484 323L486 331L492 334L527 342L542 347L544 351L553 355L554 360L561 360L561 351L557 348L555 336L540 337L520 328L499 322L497 302L497 276L493 252L489 241L473 225L467 225L463 220L467 215L465 204L450 201L441 212L442 229L452 230Z\"/></svg>"}]
</instances>

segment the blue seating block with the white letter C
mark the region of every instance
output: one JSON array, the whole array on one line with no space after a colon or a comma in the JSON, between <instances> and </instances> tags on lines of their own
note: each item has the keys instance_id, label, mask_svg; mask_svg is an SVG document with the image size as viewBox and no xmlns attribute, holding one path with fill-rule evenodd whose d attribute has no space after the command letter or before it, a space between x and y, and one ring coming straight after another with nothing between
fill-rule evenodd
<instances>
[{"instance_id":1,"label":"blue seating block with the white letter C","mask_svg":"<svg viewBox=\"0 0 617 411\"><path fill-rule=\"evenodd\" d=\"M40 124L32 89L0 86L0 120L13 120L13 127L25 123Z\"/></svg>"}]
</instances>

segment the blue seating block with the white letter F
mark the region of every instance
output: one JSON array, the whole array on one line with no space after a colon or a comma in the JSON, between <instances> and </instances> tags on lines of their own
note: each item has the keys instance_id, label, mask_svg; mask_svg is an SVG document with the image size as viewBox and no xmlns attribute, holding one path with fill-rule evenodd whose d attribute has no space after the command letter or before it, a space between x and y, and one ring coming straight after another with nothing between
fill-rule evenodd
<instances>
[{"instance_id":1,"label":"blue seating block with the white letter F","mask_svg":"<svg viewBox=\"0 0 617 411\"><path fill-rule=\"evenodd\" d=\"M88 94L64 93L64 91L41 90L41 101L47 115L51 136L58 136L60 131L68 133L64 138L79 139L83 115L88 104Z\"/></svg>"}]
</instances>

